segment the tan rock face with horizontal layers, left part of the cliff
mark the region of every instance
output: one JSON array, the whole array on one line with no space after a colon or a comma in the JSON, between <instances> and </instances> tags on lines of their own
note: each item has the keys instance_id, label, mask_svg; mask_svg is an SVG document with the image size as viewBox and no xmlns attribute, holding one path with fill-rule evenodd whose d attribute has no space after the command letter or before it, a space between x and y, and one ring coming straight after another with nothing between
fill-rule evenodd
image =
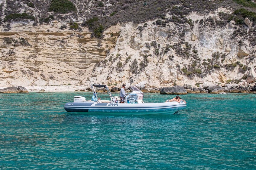
<instances>
[{"instance_id":1,"label":"tan rock face with horizontal layers, left part of the cliff","mask_svg":"<svg viewBox=\"0 0 256 170\"><path fill-rule=\"evenodd\" d=\"M77 85L115 46L119 26L105 31L104 39L91 38L89 30L60 30L63 23L32 26L12 23L0 27L0 86Z\"/></svg>"}]
</instances>

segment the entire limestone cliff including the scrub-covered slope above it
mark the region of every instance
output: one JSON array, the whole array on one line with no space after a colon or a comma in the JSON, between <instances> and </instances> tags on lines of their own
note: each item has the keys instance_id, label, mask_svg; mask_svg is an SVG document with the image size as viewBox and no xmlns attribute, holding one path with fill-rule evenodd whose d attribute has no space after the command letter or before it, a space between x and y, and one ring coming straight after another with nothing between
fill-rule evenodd
<instances>
[{"instance_id":1,"label":"entire limestone cliff including the scrub-covered slope above it","mask_svg":"<svg viewBox=\"0 0 256 170\"><path fill-rule=\"evenodd\" d=\"M50 1L31 2L0 0L0 86L256 80L255 13L219 1L74 0L73 11L59 14ZM101 23L86 25L89 16L105 23L102 35Z\"/></svg>"}]
</instances>

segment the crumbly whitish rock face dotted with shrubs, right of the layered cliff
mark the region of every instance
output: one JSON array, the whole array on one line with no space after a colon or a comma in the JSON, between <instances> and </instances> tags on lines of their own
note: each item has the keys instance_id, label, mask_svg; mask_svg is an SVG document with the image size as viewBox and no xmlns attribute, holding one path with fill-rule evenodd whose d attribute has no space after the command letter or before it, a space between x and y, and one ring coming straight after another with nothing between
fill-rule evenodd
<instances>
[{"instance_id":1,"label":"crumbly whitish rock face dotted with shrubs, right of the layered cliff","mask_svg":"<svg viewBox=\"0 0 256 170\"><path fill-rule=\"evenodd\" d=\"M217 25L219 15L231 13L229 8L207 15L192 13L187 18L193 26L171 22L162 26L156 20L124 24L114 51L95 67L90 81L119 86L144 81L145 88L245 82L256 65L256 47L249 38L255 26L244 25L241 29L248 34L234 36L238 31L234 21Z\"/></svg>"}]
</instances>

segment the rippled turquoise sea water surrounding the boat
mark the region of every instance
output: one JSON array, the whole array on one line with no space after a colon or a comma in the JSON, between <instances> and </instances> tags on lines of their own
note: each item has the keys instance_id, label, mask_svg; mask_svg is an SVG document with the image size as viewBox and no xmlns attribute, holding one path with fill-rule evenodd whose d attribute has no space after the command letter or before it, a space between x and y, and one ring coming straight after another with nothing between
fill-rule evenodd
<instances>
[{"instance_id":1,"label":"rippled turquoise sea water surrounding the boat","mask_svg":"<svg viewBox=\"0 0 256 170\"><path fill-rule=\"evenodd\" d=\"M256 168L255 94L183 95L187 108L165 116L67 113L75 95L91 98L0 94L0 169ZM151 93L144 101L172 97Z\"/></svg>"}]
</instances>

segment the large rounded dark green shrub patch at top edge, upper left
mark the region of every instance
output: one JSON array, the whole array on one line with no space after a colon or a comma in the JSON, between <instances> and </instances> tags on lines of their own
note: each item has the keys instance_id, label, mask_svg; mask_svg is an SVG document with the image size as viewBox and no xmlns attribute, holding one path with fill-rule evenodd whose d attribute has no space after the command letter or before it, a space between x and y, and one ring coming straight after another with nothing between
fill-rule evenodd
<instances>
[{"instance_id":1,"label":"large rounded dark green shrub patch at top edge, upper left","mask_svg":"<svg viewBox=\"0 0 256 170\"><path fill-rule=\"evenodd\" d=\"M48 11L55 13L66 14L76 11L75 5L68 0L52 0Z\"/></svg>"}]
</instances>

